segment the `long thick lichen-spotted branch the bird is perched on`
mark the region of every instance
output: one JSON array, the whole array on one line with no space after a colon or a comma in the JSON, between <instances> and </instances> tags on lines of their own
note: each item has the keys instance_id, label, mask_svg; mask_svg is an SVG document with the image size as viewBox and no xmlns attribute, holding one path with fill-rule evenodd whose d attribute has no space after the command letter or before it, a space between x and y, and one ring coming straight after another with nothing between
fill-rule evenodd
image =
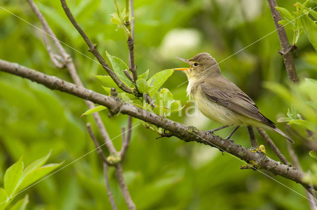
<instances>
[{"instance_id":1,"label":"long thick lichen-spotted branch the bird is perched on","mask_svg":"<svg viewBox=\"0 0 317 210\"><path fill-rule=\"evenodd\" d=\"M0 71L27 78L31 81L43 84L53 90L60 90L62 92L66 92L77 97L90 100L94 103L106 106L110 113L121 112L122 114L138 118L142 121L168 130L170 132L170 135L176 136L181 140L184 140L186 142L196 141L199 143L210 145L211 147L215 147L221 151L223 150L229 154L232 154L240 158L241 160L246 161L247 163L256 163L257 169L265 169L275 175L280 175L287 179L300 183L309 189L312 188L310 184L303 181L303 177L309 176L308 174L296 168L283 165L268 157L265 157L265 155L263 155L261 151L258 151L256 153L251 152L248 148L235 144L230 140L225 140L219 136L210 134L209 132L198 130L196 127L182 125L180 123L166 119L163 116L159 116L143 110L130 103L126 103L118 98L113 98L97 93L95 91L68 83L57 77L37 72L33 69L29 69L16 63L7 62L0 59ZM314 187L316 188L317 186Z\"/></svg>"}]
</instances>

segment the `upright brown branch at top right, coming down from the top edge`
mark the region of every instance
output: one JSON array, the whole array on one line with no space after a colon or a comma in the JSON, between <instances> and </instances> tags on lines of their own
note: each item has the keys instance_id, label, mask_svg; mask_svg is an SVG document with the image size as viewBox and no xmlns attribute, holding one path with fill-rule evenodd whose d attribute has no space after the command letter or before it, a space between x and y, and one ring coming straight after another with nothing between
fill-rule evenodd
<instances>
[{"instance_id":1,"label":"upright brown branch at top right, coming down from the top edge","mask_svg":"<svg viewBox=\"0 0 317 210\"><path fill-rule=\"evenodd\" d=\"M279 12L275 9L275 7L277 6L276 0L267 0L267 2L273 16L279 42L281 43L282 51L280 53L282 54L284 59L288 78L293 83L297 83L298 78L294 64L293 46L289 44L284 27L278 24L278 21L282 20L282 18Z\"/></svg>"}]
</instances>

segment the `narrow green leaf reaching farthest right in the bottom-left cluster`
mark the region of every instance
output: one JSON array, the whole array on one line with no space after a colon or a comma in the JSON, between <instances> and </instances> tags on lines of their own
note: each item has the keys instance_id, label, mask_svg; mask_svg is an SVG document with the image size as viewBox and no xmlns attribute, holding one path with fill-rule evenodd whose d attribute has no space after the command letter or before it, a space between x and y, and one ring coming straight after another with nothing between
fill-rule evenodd
<instances>
[{"instance_id":1,"label":"narrow green leaf reaching farthest right in the bottom-left cluster","mask_svg":"<svg viewBox=\"0 0 317 210\"><path fill-rule=\"evenodd\" d=\"M63 162L62 162L63 163ZM46 174L53 171L55 168L58 168L62 163L60 164L48 164L41 168L36 168L32 171L30 171L23 180L20 180L19 185L17 187L17 191L21 191L33 182L37 181L38 179L42 178Z\"/></svg>"}]
</instances>

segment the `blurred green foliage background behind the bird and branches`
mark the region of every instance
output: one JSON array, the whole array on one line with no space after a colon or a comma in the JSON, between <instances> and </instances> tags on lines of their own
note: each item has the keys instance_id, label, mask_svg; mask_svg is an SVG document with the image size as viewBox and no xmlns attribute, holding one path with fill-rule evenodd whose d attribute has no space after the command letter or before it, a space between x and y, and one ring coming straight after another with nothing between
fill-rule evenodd
<instances>
[{"instance_id":1,"label":"blurred green foliage background behind the bird and branches","mask_svg":"<svg viewBox=\"0 0 317 210\"><path fill-rule=\"evenodd\" d=\"M41 28L24 0L1 0L1 6ZM118 0L121 8L124 1ZM65 46L71 54L80 78L87 88L101 93L102 82L93 75L105 75L101 66L87 51L87 45L66 18L58 0L36 0L58 39L83 54ZM87 35L106 57L105 50L128 63L126 37L110 22L115 11L112 0L68 0L70 9ZM278 0L278 5L293 10L293 0ZM138 73L150 69L149 76L170 68L184 67L175 56L190 58L206 51L222 61L243 47L275 30L266 0L136 0L135 60ZM313 2L308 3L315 7ZM292 31L287 29L292 39ZM305 36L298 43L295 58L299 78L317 76L317 54ZM276 32L221 62L222 74L237 84L262 113L272 121L286 116L282 98L264 88L265 81L289 85ZM54 68L39 30L0 9L0 58L71 81L64 69ZM91 58L91 59L89 59ZM174 99L186 104L185 74L174 72L163 87ZM181 86L177 87L179 84ZM186 104L185 108L190 104ZM0 72L0 180L4 171L21 156L25 165L47 155L49 163L64 165L94 149L85 124L91 116L80 118L87 110L82 99L51 91L16 76ZM185 110L185 109L184 109ZM121 146L120 128L127 117L108 119L100 112L114 145ZM199 115L173 120L199 129L217 126ZM133 121L133 126L140 122ZM93 124L93 126L95 126ZM283 124L278 125L284 129ZM96 127L94 127L96 128ZM304 135L305 130L296 128ZM97 130L97 129L95 129ZM226 136L230 128L216 134ZM97 133L97 132L96 132ZM288 157L285 139L268 132ZM100 136L99 136L100 137ZM253 170L241 170L243 163L229 154L194 142L185 143L174 137L160 138L139 125L133 128L132 141L123 162L124 176L132 199L139 210L306 210L304 188L290 180ZM269 157L277 160L262 138ZM239 129L232 137L249 147L247 129ZM295 149L304 170L315 161L302 142L295 139ZM118 209L125 210L114 170L110 168L110 187ZM3 186L3 183L0 183ZM28 209L40 210L104 210L110 209L107 199L102 162L96 152L64 168L17 197L29 194Z\"/></svg>"}]
</instances>

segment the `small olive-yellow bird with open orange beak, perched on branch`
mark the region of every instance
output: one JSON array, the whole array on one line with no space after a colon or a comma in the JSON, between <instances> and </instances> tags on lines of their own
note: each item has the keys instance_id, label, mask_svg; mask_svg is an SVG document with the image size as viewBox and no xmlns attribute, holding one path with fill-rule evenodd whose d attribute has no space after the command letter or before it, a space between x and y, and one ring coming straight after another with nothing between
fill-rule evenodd
<instances>
[{"instance_id":1,"label":"small olive-yellow bird with open orange beak, perched on branch","mask_svg":"<svg viewBox=\"0 0 317 210\"><path fill-rule=\"evenodd\" d=\"M229 139L239 126L256 126L274 130L294 142L261 114L247 94L221 75L218 63L209 53L202 52L188 60L176 58L190 65L190 68L174 69L186 73L189 82L186 91L189 98L197 102L198 109L206 117L224 125L210 130L211 133L228 126L236 126L226 138Z\"/></svg>"}]
</instances>

